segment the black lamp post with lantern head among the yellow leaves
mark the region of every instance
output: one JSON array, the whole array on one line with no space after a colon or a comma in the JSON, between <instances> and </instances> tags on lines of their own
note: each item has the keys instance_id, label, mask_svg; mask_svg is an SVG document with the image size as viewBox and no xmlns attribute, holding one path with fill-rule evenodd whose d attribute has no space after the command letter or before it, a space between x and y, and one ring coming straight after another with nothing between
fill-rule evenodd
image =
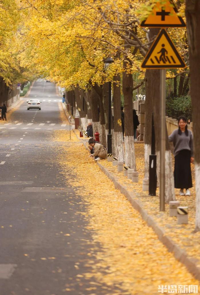
<instances>
[{"instance_id":1,"label":"black lamp post with lantern head among the yellow leaves","mask_svg":"<svg viewBox=\"0 0 200 295\"><path fill-rule=\"evenodd\" d=\"M107 70L109 65L114 62L114 60L110 57L104 60L104 69ZM109 91L108 91L108 154L112 154L112 134L111 134L111 118L112 118L112 110L111 110L111 81L108 82Z\"/></svg>"}]
</instances>

